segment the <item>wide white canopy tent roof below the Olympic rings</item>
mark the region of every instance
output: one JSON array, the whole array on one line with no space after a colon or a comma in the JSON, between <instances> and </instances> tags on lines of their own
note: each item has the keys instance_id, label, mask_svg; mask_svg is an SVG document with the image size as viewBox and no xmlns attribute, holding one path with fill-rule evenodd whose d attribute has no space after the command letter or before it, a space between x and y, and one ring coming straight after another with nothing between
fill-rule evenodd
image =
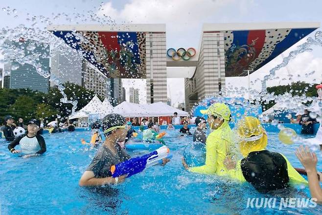
<instances>
[{"instance_id":1,"label":"wide white canopy tent roof below the Olympic rings","mask_svg":"<svg viewBox=\"0 0 322 215\"><path fill-rule=\"evenodd\" d=\"M113 112L121 114L124 117L172 116L174 112L178 112L178 116L189 116L188 112L177 108L172 108L163 102L157 102L149 105L138 105L130 102L122 102L114 108Z\"/></svg>"}]
</instances>

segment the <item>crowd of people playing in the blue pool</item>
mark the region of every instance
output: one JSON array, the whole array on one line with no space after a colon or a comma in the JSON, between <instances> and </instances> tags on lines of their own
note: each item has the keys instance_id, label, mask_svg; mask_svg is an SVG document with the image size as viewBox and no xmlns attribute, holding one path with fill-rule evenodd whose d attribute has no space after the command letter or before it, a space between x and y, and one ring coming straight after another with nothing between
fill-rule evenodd
<instances>
[{"instance_id":1,"label":"crowd of people playing in the blue pool","mask_svg":"<svg viewBox=\"0 0 322 215\"><path fill-rule=\"evenodd\" d=\"M266 149L268 145L268 136L260 121L251 116L239 120L234 130L229 126L231 120L230 109L223 103L215 103L201 113L207 115L194 118L196 129L193 134L193 142L201 142L206 147L206 161L203 166L190 167L182 158L184 169L189 172L202 174L216 174L220 176L227 175L230 178L249 182L253 187L262 193L285 189L290 186L290 182L308 184L312 197L317 202L322 202L322 190L317 175L317 156L310 152L306 147L300 147L296 151L296 156L303 164L308 175L307 182L297 172L288 161L287 157L279 152L273 152ZM44 137L40 134L42 122L36 119L30 120L26 125L23 119L19 119L15 125L11 116L4 118L5 125L1 128L7 141L11 141L8 149L11 153L23 153L24 157L35 156L46 152L46 143ZM190 119L191 120L191 119ZM309 113L305 112L299 120L301 125L308 127L310 120ZM177 113L171 120L167 129L174 129L175 125L183 124L179 132L182 135L192 136L188 125L189 118L180 118ZM206 135L207 124L211 132ZM15 138L13 133L14 126L26 128L23 135ZM101 147L92 159L92 162L80 178L79 185L92 187L106 184L121 183L127 175L113 177L110 171L111 166L128 160L130 156L123 150L122 144L126 143L134 136L137 126L136 118L132 122L126 122L126 119L120 114L108 114L102 122L94 122L91 125L92 133L96 134L92 138L94 145ZM159 140L157 136L160 132L158 123L148 122L146 118L142 119L140 129L143 133L143 141ZM144 128L147 126L147 128ZM70 123L60 124L59 127L51 124L49 128L51 133L59 129L74 130ZM56 131L55 131L56 129ZM102 139L99 129L103 131L105 140ZM310 128L309 128L310 129ZM236 139L237 138L237 139ZM236 145L237 142L237 145ZM21 150L15 147L20 145ZM242 156L238 159L238 153ZM169 162L164 158L162 165ZM320 177L322 180L322 177Z\"/></svg>"}]
</instances>

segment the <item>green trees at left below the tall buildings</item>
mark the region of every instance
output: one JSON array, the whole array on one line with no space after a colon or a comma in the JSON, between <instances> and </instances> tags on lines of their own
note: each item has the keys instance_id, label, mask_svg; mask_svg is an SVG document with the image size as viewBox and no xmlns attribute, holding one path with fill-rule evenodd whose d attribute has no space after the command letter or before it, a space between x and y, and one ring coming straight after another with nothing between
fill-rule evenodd
<instances>
[{"instance_id":1,"label":"green trees at left below the tall buildings","mask_svg":"<svg viewBox=\"0 0 322 215\"><path fill-rule=\"evenodd\" d=\"M85 87L71 83L63 84L68 100L77 100L76 111L85 107L94 97L94 92ZM54 120L67 118L71 113L71 104L60 101L63 98L57 87L48 93L32 91L30 89L0 89L0 118L12 115L15 120L22 117L24 121L31 118L45 118ZM102 98L100 98L102 100ZM52 116L53 115L53 116Z\"/></svg>"}]
</instances>

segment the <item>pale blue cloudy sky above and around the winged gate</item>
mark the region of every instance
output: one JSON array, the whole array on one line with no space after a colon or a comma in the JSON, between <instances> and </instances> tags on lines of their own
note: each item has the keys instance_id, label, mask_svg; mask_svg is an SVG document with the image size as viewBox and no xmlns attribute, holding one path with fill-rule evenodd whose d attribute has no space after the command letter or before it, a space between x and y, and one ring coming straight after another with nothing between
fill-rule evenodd
<instances>
[{"instance_id":1,"label":"pale blue cloudy sky above and around the winged gate","mask_svg":"<svg viewBox=\"0 0 322 215\"><path fill-rule=\"evenodd\" d=\"M22 0L10 0L1 1L1 3L1 7L9 6L11 9L16 9L16 13L7 15L7 11L1 10L0 27L28 24L27 16L39 17L40 15L49 17L55 24L67 23L66 19L52 19L59 13L78 13L86 16L94 14L98 17L106 15L110 16L115 23L165 23L167 48L196 47L199 49L203 23L322 21L322 1L319 0L28 0L27 3ZM87 23L84 20L69 23L76 24L76 22ZM36 23L37 25L45 24ZM314 37L314 33L309 37ZM306 38L285 51L283 56L286 57L305 40ZM253 89L260 90L260 80L269 73L271 68L282 62L283 56L278 56L250 76ZM305 75L312 71L315 72ZM290 74L293 75L292 81L320 82L322 80L321 47L313 47L312 52L304 52L297 56L277 72L279 78L270 81L268 86L288 84ZM126 89L139 86L141 102L145 101L144 83L144 80L123 82ZM184 79L168 79L167 84L168 96L171 97L173 105L183 102ZM228 87L247 87L247 84L247 77L226 78Z\"/></svg>"}]
</instances>

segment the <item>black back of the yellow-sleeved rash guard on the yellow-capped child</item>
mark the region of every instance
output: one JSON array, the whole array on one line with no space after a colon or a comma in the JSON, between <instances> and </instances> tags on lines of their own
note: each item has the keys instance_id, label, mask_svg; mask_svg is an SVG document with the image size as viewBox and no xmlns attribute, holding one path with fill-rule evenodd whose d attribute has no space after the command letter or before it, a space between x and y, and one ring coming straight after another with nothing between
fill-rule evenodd
<instances>
[{"instance_id":1,"label":"black back of the yellow-sleeved rash guard on the yellow-capped child","mask_svg":"<svg viewBox=\"0 0 322 215\"><path fill-rule=\"evenodd\" d=\"M287 162L279 153L252 151L241 160L240 167L246 181L261 193L289 186Z\"/></svg>"}]
</instances>

